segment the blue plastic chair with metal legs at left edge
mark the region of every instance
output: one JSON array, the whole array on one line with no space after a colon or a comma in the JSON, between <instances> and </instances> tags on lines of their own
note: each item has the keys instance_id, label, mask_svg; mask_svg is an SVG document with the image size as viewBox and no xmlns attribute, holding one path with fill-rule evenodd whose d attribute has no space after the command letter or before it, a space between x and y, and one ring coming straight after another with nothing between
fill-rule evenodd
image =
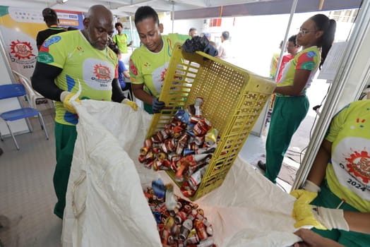
<instances>
[{"instance_id":1,"label":"blue plastic chair with metal legs at left edge","mask_svg":"<svg viewBox=\"0 0 370 247\"><path fill-rule=\"evenodd\" d=\"M13 97L27 97L27 92L25 91L25 87L22 84L6 84L6 85L0 85L0 100L9 99ZM28 100L28 102L30 102ZM42 118L41 113L32 107L22 107L19 109L13 109L8 112L3 112L0 114L0 118L4 119L6 126L8 126L8 130L11 133L11 137L13 138L14 145L16 145L17 149L19 150L18 143L16 141L16 138L14 137L13 131L11 131L11 126L9 125L10 121L16 121L18 119L26 119L28 121L28 117L30 116L38 116L41 128L44 130L47 140L49 140L49 135L47 133L47 128L44 123L44 119ZM30 126L30 131L32 131L32 126L30 125L30 122L28 121L28 126ZM0 132L0 138L2 141L4 141L1 132Z\"/></svg>"}]
</instances>

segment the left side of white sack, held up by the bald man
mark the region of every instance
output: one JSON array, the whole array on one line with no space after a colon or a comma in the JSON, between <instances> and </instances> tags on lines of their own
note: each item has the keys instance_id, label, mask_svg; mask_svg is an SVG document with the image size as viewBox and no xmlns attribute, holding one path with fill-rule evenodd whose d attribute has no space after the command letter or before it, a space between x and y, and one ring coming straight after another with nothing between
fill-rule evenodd
<instances>
[{"instance_id":1,"label":"left side of white sack, held up by the bald man","mask_svg":"<svg viewBox=\"0 0 370 247\"><path fill-rule=\"evenodd\" d=\"M162 246L128 155L141 147L135 139L142 143L151 116L114 102L83 100L76 108L78 137L66 196L64 246Z\"/></svg>"}]
</instances>

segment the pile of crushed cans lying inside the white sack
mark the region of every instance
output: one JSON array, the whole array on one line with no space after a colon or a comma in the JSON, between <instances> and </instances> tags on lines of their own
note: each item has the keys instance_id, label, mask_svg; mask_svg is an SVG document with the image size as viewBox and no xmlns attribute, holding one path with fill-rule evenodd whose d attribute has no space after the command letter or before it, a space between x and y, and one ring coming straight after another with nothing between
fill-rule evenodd
<instances>
[{"instance_id":1,"label":"pile of crushed cans lying inside the white sack","mask_svg":"<svg viewBox=\"0 0 370 247\"><path fill-rule=\"evenodd\" d=\"M159 186L158 181L153 181L152 184L153 187L145 189L144 195L157 222L163 246L216 246L212 224L208 222L203 210L196 203L174 195L172 185ZM174 203L167 203L170 197L174 198ZM171 204L173 206L169 206Z\"/></svg>"}]
</instances>

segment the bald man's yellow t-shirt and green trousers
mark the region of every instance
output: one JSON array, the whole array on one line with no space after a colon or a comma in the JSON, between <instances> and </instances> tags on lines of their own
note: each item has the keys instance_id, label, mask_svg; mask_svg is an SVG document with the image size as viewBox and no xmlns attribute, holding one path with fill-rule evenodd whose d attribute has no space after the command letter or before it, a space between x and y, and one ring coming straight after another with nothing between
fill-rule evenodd
<instances>
[{"instance_id":1,"label":"bald man's yellow t-shirt and green trousers","mask_svg":"<svg viewBox=\"0 0 370 247\"><path fill-rule=\"evenodd\" d=\"M54 80L61 90L77 92L80 88L80 99L111 101L117 55L109 48L95 49L79 30L61 32L45 40L37 62L62 69ZM66 111L62 102L55 103L55 110L56 168L53 181L58 202L54 213L62 218L78 116Z\"/></svg>"}]
</instances>

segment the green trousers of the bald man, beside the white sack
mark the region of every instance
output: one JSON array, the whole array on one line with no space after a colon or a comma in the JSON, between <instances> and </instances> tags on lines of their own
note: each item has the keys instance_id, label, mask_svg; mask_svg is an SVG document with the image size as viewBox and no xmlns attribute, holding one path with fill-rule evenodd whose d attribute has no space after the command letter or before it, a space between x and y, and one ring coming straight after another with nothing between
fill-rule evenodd
<instances>
[{"instance_id":1,"label":"green trousers of the bald man, beside the white sack","mask_svg":"<svg viewBox=\"0 0 370 247\"><path fill-rule=\"evenodd\" d=\"M58 202L55 204L54 214L61 219L66 207L66 191L76 138L76 126L55 123L56 167L53 183Z\"/></svg>"}]
</instances>

